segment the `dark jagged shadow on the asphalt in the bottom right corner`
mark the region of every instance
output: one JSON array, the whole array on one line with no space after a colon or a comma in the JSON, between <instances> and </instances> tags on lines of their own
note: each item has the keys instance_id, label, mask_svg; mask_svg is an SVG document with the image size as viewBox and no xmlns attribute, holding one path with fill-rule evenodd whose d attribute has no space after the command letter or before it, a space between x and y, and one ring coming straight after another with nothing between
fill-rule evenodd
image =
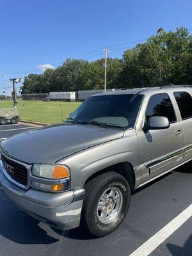
<instances>
[{"instance_id":1,"label":"dark jagged shadow on the asphalt in the bottom right corner","mask_svg":"<svg viewBox=\"0 0 192 256\"><path fill-rule=\"evenodd\" d=\"M175 244L166 245L172 256L191 256L192 255L192 235L184 244L184 247Z\"/></svg>"}]
</instances>

